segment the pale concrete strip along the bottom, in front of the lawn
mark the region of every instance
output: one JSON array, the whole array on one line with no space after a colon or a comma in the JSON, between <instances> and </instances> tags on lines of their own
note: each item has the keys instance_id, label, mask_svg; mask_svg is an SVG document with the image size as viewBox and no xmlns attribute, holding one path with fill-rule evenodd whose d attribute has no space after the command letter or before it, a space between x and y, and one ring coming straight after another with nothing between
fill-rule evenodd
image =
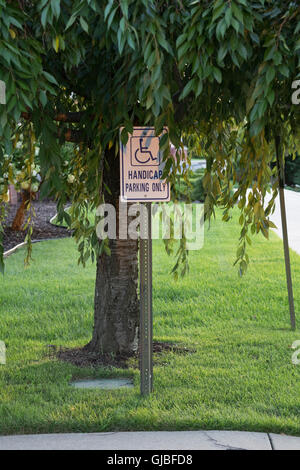
<instances>
[{"instance_id":1,"label":"pale concrete strip along the bottom, in front of the lawn","mask_svg":"<svg viewBox=\"0 0 300 470\"><path fill-rule=\"evenodd\" d=\"M37 434L2 436L0 450L300 450L300 437L240 431Z\"/></svg>"}]
</instances>

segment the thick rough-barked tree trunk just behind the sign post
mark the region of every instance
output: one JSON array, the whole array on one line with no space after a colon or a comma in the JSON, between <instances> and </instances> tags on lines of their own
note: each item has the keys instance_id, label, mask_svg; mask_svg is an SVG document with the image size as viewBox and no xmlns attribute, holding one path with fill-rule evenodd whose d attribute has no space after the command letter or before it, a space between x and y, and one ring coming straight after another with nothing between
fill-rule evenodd
<instances>
[{"instance_id":1,"label":"thick rough-barked tree trunk just behind the sign post","mask_svg":"<svg viewBox=\"0 0 300 470\"><path fill-rule=\"evenodd\" d=\"M119 157L113 148L105 158L109 171L104 181L112 193L105 194L105 201L116 208L117 239L110 240L111 255L103 253L97 260L94 329L86 348L100 354L130 355L138 347L138 241L118 239Z\"/></svg>"}]
</instances>

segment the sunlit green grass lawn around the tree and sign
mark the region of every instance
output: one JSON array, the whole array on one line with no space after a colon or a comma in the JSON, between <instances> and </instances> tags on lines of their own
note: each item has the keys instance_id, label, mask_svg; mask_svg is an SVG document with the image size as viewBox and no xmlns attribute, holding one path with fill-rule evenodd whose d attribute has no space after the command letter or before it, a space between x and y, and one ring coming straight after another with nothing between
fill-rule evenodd
<instances>
[{"instance_id":1,"label":"sunlit green grass lawn around the tree and sign","mask_svg":"<svg viewBox=\"0 0 300 470\"><path fill-rule=\"evenodd\" d=\"M220 218L219 218L220 219ZM236 219L217 220L189 276L173 281L174 260L154 244L154 337L195 348L156 357L155 391L139 395L139 372L79 369L50 359L46 345L84 345L93 324L95 267L76 265L70 239L34 245L7 259L0 279L0 434L116 430L235 429L300 435L300 365L291 332L282 242L256 237L240 279L232 267ZM300 257L292 253L296 312ZM300 317L298 317L300 324ZM135 388L77 390L72 377L131 376Z\"/></svg>"}]
</instances>

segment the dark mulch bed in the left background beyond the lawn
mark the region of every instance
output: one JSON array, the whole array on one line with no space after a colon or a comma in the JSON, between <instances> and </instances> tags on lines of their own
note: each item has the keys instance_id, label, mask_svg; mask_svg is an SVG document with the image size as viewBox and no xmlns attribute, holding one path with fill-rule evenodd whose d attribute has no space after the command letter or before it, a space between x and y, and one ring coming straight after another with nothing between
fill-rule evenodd
<instances>
[{"instance_id":1,"label":"dark mulch bed in the left background beyond the lawn","mask_svg":"<svg viewBox=\"0 0 300 470\"><path fill-rule=\"evenodd\" d=\"M56 203L53 201L34 201L32 203L35 218L32 240L44 240L48 238L70 237L70 231L63 227L50 224L49 220L56 215ZM4 221L4 251L14 248L24 242L26 231L15 232L11 230L11 224L17 212L17 206L8 206L7 217Z\"/></svg>"}]
</instances>

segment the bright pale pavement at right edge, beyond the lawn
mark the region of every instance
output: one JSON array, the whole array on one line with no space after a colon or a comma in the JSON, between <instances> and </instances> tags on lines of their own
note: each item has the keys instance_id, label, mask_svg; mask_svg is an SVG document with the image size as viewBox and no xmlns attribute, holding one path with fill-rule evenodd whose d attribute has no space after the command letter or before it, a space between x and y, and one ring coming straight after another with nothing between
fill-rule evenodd
<instances>
[{"instance_id":1,"label":"bright pale pavement at right edge, beyond the lawn","mask_svg":"<svg viewBox=\"0 0 300 470\"><path fill-rule=\"evenodd\" d=\"M300 193L284 190L286 216L288 226L289 246L300 255ZM276 198L276 208L270 219L277 225L274 232L282 238L281 213L279 196Z\"/></svg>"}]
</instances>

